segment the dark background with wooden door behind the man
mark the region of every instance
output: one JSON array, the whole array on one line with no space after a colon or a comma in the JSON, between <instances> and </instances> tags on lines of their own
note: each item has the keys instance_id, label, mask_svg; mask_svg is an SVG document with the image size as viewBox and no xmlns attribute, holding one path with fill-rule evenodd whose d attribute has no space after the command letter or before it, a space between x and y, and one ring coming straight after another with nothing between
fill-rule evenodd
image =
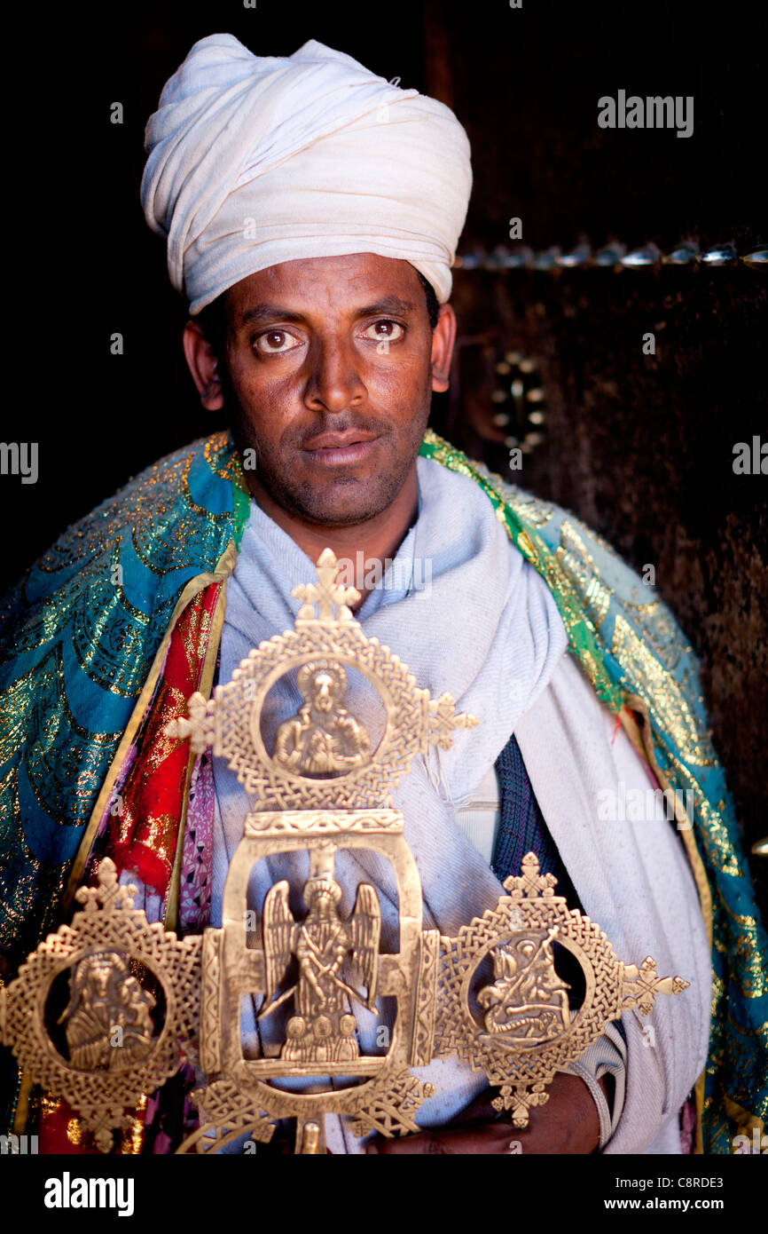
<instances>
[{"instance_id":1,"label":"dark background with wooden door behind the man","mask_svg":"<svg viewBox=\"0 0 768 1234\"><path fill-rule=\"evenodd\" d=\"M235 0L30 10L12 67L31 85L6 114L10 389L2 439L39 443L39 480L0 478L5 589L131 475L219 427L196 401L184 306L138 188L143 127L191 43L231 31L256 54L318 38L454 107L475 191L460 253L587 236L663 252L684 237L740 253L768 239L766 22L743 0L679 4L272 2ZM23 63L18 64L23 69ZM694 133L605 131L600 95L694 95ZM110 105L125 123L110 123ZM22 278L11 283L14 258ZM701 656L716 748L750 843L768 833L767 481L735 475L733 444L768 438L768 280L746 267L455 275L460 341L434 423L504 470L494 364L536 365L546 439L507 475L572 508L636 568ZM110 354L121 332L125 354ZM657 354L643 355L642 334ZM12 362L11 362L12 357ZM11 363L9 363L11 362ZM763 902L768 863L752 858Z\"/></svg>"}]
</instances>

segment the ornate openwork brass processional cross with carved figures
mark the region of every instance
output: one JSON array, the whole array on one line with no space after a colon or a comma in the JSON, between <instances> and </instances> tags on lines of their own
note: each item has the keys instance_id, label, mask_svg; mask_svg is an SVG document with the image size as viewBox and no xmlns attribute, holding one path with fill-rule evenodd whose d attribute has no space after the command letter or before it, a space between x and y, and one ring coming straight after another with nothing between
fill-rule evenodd
<instances>
[{"instance_id":1,"label":"ornate openwork brass processional cross with carved figures","mask_svg":"<svg viewBox=\"0 0 768 1234\"><path fill-rule=\"evenodd\" d=\"M431 698L365 636L349 607L359 592L335 576L325 549L317 581L293 590L302 602L293 629L254 648L211 700L192 695L187 716L165 729L196 755L212 748L251 807L221 927L178 939L148 924L133 908L136 888L120 886L105 858L96 886L78 891L71 923L0 987L0 1040L33 1082L69 1102L105 1153L142 1093L184 1059L205 1083L194 1095L198 1128L180 1153L265 1141L277 1119L292 1118L296 1151L321 1154L328 1113L349 1119L354 1135L415 1133L434 1088L413 1069L451 1054L486 1074L499 1090L494 1106L524 1128L556 1071L610 1021L635 1007L646 1016L658 993L688 986L660 977L650 956L640 966L619 960L533 853L496 907L456 937L423 928L419 870L390 792L413 758L430 744L449 749L478 721L456 712L449 694ZM381 734L348 706L350 674L378 697ZM270 737L268 697L284 680L302 702ZM392 871L397 950L382 944L372 882L357 882L351 909L341 906L337 856L360 850ZM287 859L291 872L269 886L254 930L244 924L249 881L269 858ZM558 971L565 953L583 975L577 1006ZM256 1007L255 1051L242 1039L244 997ZM381 1048L371 1046L371 1024L386 1028Z\"/></svg>"}]
</instances>

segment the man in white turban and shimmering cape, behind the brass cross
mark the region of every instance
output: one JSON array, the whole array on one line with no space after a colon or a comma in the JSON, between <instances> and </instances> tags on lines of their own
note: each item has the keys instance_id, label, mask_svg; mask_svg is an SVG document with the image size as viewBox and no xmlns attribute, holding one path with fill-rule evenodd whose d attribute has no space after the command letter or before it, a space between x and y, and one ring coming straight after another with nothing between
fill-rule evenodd
<instances>
[{"instance_id":1,"label":"man in white turban and shimmering cape, behind the brass cross","mask_svg":"<svg viewBox=\"0 0 768 1234\"><path fill-rule=\"evenodd\" d=\"M764 1112L751 1035L766 1018L763 935L689 649L587 528L427 429L456 331L464 130L436 101L317 42L258 58L214 35L166 84L147 147L143 204L190 301L187 364L203 407L227 410L232 438L139 476L6 602L9 971L107 853L155 919L217 924L242 786L218 760L191 759L166 724L292 624L291 589L312 580L323 548L391 559L406 581L362 586L364 629L419 685L481 718L452 750L415 760L393 795L425 924L451 933L482 913L533 848L620 958L650 953L690 981L655 1008L652 1032L635 1014L609 1025L514 1139L523 1153L679 1153L695 1122L700 1148L730 1151L733 1129ZM425 594L413 586L418 559L431 563ZM345 706L372 732L360 685L348 685ZM277 734L302 694L274 695ZM600 793L657 785L689 792L690 817L677 793L672 823L600 810ZM386 944L386 871L341 856L339 912L370 875ZM279 877L301 882L298 861L254 874L256 911ZM359 1012L370 1050L376 1017ZM270 1019L256 1014L243 1017L254 1049ZM337 1120L332 1151L510 1150L481 1077L455 1060L424 1075L436 1092L422 1135L362 1144ZM27 1090L22 1077L17 1127L35 1113ZM134 1129L155 1151L174 1143L163 1101ZM71 1112L43 1099L38 1120L41 1146L68 1150Z\"/></svg>"}]
</instances>

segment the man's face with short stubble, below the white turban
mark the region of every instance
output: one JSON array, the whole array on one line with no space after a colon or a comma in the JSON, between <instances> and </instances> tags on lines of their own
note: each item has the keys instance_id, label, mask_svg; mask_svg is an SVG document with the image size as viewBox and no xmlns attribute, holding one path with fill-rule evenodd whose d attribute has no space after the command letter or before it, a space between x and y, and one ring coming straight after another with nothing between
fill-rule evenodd
<instances>
[{"instance_id":1,"label":"man's face with short stubble, below the white turban","mask_svg":"<svg viewBox=\"0 0 768 1234\"><path fill-rule=\"evenodd\" d=\"M371 253L285 262L231 288L226 308L224 405L255 450L256 497L324 527L382 513L414 466L443 346L414 268Z\"/></svg>"}]
</instances>

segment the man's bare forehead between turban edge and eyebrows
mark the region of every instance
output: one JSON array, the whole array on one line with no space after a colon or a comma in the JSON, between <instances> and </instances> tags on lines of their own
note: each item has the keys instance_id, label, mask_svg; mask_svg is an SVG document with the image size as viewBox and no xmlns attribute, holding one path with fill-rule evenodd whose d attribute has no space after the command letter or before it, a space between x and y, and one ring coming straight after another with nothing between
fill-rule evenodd
<instances>
[{"instance_id":1,"label":"man's bare forehead between turban edge and eyebrows","mask_svg":"<svg viewBox=\"0 0 768 1234\"><path fill-rule=\"evenodd\" d=\"M413 310L422 307L424 291L409 262L377 253L280 262L249 274L226 292L227 306L235 315L266 302L286 308L333 302L355 310L385 297L398 297Z\"/></svg>"}]
</instances>

